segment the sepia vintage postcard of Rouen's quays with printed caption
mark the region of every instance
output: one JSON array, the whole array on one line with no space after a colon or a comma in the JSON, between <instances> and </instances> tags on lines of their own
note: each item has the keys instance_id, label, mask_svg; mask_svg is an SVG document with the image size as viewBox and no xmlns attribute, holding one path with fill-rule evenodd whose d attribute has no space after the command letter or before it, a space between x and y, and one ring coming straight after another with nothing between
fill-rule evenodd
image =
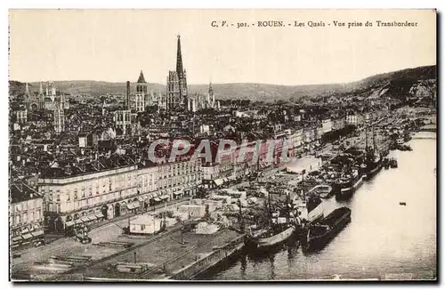
<instances>
[{"instance_id":1,"label":"sepia vintage postcard of Rouen's quays with printed caption","mask_svg":"<svg viewBox=\"0 0 445 290\"><path fill-rule=\"evenodd\" d=\"M10 279L437 280L436 21L10 10Z\"/></svg>"}]
</instances>

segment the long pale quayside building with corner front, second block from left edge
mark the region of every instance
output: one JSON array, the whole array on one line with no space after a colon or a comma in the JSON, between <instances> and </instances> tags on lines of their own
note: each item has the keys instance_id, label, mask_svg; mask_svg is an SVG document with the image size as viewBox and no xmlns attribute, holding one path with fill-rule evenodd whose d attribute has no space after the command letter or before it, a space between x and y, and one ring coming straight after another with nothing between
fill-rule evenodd
<instances>
[{"instance_id":1,"label":"long pale quayside building with corner front, second block from left edge","mask_svg":"<svg viewBox=\"0 0 445 290\"><path fill-rule=\"evenodd\" d=\"M44 196L45 226L50 230L112 219L138 202L137 165L129 157L54 166L37 182Z\"/></svg>"}]
</instances>

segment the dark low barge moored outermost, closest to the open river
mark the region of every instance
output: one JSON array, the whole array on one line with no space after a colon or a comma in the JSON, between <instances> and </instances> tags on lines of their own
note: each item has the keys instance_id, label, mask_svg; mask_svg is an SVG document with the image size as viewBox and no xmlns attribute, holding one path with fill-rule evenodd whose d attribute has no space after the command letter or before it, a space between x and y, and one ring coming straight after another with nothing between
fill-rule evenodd
<instances>
[{"instance_id":1,"label":"dark low barge moored outermost, closest to the open river","mask_svg":"<svg viewBox=\"0 0 445 290\"><path fill-rule=\"evenodd\" d=\"M351 210L348 207L337 208L326 218L309 228L303 249L305 252L322 249L349 222L351 222Z\"/></svg>"}]
</instances>

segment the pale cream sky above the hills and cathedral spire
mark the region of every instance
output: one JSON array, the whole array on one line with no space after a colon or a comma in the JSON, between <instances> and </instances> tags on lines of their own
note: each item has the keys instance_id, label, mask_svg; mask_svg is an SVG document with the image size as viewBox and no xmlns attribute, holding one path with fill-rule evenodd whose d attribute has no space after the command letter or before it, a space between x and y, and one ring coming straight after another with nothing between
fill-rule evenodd
<instances>
[{"instance_id":1,"label":"pale cream sky above the hills and cathedral spire","mask_svg":"<svg viewBox=\"0 0 445 290\"><path fill-rule=\"evenodd\" d=\"M10 10L10 79L166 84L181 35L189 84L314 85L436 64L431 10ZM285 27L258 27L281 20ZM373 27L348 28L366 21ZM417 27L376 27L376 20ZM216 21L220 27L212 27ZM221 27L226 21L226 27ZM295 21L305 27L294 27ZM308 27L308 22L324 27ZM336 27L334 21L345 22ZM234 24L232 27L230 24ZM237 28L247 23L248 28ZM253 24L255 23L255 26ZM292 24L292 26L288 26ZM328 25L330 24L330 25Z\"/></svg>"}]
</instances>

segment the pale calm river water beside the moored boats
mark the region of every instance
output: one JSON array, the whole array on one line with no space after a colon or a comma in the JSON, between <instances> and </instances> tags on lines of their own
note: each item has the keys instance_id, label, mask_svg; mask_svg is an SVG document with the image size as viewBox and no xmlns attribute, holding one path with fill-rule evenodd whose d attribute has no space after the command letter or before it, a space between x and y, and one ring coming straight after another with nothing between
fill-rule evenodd
<instances>
[{"instance_id":1,"label":"pale calm river water beside the moored boats","mask_svg":"<svg viewBox=\"0 0 445 290\"><path fill-rule=\"evenodd\" d=\"M417 139L418 137L432 137ZM319 253L282 246L263 257L239 254L198 279L431 279L436 275L436 140L417 133L413 151L392 151L399 167L382 169L351 200L327 200L325 215L352 209L352 222ZM406 206L399 205L401 201Z\"/></svg>"}]
</instances>

